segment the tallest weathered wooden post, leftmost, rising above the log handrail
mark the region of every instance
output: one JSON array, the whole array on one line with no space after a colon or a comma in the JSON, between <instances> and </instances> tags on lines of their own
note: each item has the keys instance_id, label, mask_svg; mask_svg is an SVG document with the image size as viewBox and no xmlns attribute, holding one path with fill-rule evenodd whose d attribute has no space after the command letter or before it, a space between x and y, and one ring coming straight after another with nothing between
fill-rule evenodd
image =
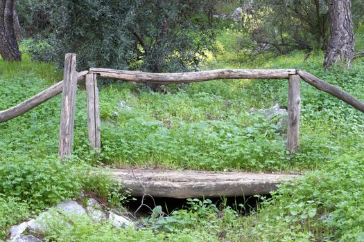
<instances>
[{"instance_id":1,"label":"tallest weathered wooden post, leftmost, rising above the log handrail","mask_svg":"<svg viewBox=\"0 0 364 242\"><path fill-rule=\"evenodd\" d=\"M64 59L62 111L60 118L60 158L71 156L73 142L73 123L75 119L77 89L76 54L66 54Z\"/></svg>"}]
</instances>

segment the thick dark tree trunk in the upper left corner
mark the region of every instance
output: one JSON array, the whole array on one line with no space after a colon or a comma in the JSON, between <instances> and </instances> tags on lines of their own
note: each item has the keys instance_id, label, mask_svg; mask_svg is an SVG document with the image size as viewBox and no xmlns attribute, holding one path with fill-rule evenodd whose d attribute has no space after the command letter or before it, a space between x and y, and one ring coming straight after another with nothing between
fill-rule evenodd
<instances>
[{"instance_id":1,"label":"thick dark tree trunk in the upper left corner","mask_svg":"<svg viewBox=\"0 0 364 242\"><path fill-rule=\"evenodd\" d=\"M0 55L6 61L20 61L21 54L14 31L16 0L0 1Z\"/></svg>"}]
</instances>

